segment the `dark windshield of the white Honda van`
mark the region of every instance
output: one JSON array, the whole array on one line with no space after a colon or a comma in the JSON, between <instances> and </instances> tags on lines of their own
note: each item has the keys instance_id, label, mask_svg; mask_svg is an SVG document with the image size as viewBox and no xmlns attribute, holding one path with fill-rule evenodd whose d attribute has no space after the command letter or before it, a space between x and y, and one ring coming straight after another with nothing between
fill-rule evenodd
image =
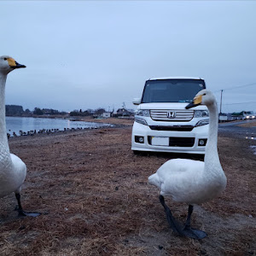
<instances>
[{"instance_id":1,"label":"dark windshield of the white Honda van","mask_svg":"<svg viewBox=\"0 0 256 256\"><path fill-rule=\"evenodd\" d=\"M196 93L205 88L203 80L148 80L144 87L142 103L192 102Z\"/></svg>"}]
</instances>

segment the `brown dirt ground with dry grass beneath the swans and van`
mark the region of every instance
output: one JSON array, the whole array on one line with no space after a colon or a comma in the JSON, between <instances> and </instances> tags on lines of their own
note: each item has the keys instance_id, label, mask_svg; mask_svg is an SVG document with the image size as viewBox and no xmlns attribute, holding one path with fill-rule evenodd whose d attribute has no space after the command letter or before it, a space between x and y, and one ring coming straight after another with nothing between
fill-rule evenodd
<instances>
[{"instance_id":1,"label":"brown dirt ground with dry grass beneath the swans and van","mask_svg":"<svg viewBox=\"0 0 256 256\"><path fill-rule=\"evenodd\" d=\"M131 123L10 138L11 152L27 166L23 207L42 215L18 218L15 195L0 199L0 255L255 255L255 141L219 134L228 186L195 206L192 225L208 235L196 241L172 233L148 176L171 158L201 157L135 155ZM166 203L185 219L184 204Z\"/></svg>"}]
</instances>

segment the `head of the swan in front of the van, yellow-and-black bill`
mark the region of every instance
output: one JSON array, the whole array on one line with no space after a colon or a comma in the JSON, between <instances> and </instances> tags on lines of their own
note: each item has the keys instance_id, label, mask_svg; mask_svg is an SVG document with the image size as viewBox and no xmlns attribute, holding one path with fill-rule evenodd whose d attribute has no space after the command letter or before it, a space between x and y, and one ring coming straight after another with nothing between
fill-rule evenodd
<instances>
[{"instance_id":1,"label":"head of the swan in front of the van, yellow-and-black bill","mask_svg":"<svg viewBox=\"0 0 256 256\"><path fill-rule=\"evenodd\" d=\"M189 103L189 105L186 106L186 109L194 108L198 105L207 105L210 106L213 103L216 102L216 98L213 95L211 90L200 90L195 98L193 99L193 102Z\"/></svg>"}]
</instances>

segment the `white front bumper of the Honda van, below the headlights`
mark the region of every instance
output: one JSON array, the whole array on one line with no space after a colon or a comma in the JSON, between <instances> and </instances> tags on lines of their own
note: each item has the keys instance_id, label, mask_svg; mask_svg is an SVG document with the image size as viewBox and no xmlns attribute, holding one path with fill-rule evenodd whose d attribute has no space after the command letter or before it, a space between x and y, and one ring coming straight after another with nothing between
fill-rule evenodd
<instances>
[{"instance_id":1,"label":"white front bumper of the Honda van, below the headlights","mask_svg":"<svg viewBox=\"0 0 256 256\"><path fill-rule=\"evenodd\" d=\"M173 152L188 154L205 154L206 147L199 146L200 139L207 139L209 125L195 127L192 131L154 131L148 125L134 122L131 135L131 149L135 151ZM136 142L135 137L143 137L143 143ZM152 137L168 137L169 145L156 146Z\"/></svg>"}]
</instances>

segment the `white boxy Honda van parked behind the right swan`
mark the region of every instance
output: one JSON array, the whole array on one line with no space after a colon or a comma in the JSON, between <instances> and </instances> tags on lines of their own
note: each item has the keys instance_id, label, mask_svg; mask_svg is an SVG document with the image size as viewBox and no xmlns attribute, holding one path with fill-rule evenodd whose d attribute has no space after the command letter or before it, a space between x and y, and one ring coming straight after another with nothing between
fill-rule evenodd
<instances>
[{"instance_id":1,"label":"white boxy Honda van parked behind the right swan","mask_svg":"<svg viewBox=\"0 0 256 256\"><path fill-rule=\"evenodd\" d=\"M132 127L131 149L138 151L205 154L209 115L206 106L185 107L206 88L204 79L148 79Z\"/></svg>"}]
</instances>

